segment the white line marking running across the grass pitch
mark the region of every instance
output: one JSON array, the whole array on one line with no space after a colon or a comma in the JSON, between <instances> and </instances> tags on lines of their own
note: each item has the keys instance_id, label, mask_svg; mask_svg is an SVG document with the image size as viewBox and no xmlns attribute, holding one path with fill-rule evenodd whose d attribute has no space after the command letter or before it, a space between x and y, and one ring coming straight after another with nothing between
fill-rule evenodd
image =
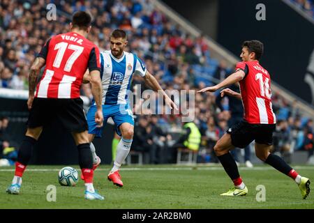
<instances>
[{"instance_id":1,"label":"white line marking running across the grass pitch","mask_svg":"<svg viewBox=\"0 0 314 223\"><path fill-rule=\"evenodd\" d=\"M110 167L108 167L110 169ZM107 171L108 169L96 169L96 171ZM180 170L222 170L223 167L125 167L122 168L122 171L180 171ZM273 167L239 167L240 170L257 170L257 171L264 171L274 169ZM298 167L295 166L294 169L314 169L314 166L309 167ZM27 169L27 171L59 171L60 169ZM10 172L15 171L15 169L0 169L0 172Z\"/></svg>"}]
</instances>

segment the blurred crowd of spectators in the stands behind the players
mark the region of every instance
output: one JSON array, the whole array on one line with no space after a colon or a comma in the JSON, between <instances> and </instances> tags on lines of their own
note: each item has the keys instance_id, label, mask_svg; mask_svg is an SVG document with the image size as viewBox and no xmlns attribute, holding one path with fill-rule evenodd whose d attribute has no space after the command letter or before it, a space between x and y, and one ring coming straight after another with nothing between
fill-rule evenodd
<instances>
[{"instance_id":1,"label":"blurred crowd of spectators in the stands behind the players","mask_svg":"<svg viewBox=\"0 0 314 223\"><path fill-rule=\"evenodd\" d=\"M308 2L313 6L311 1ZM46 19L48 3L57 6L57 21ZM308 6L306 6L308 7ZM134 52L144 60L163 89L199 90L226 77L233 68L225 61L211 57L211 49L204 36L194 38L181 31L180 27L156 10L149 0L107 1L10 1L0 3L0 87L28 89L29 67L45 40L50 36L68 31L71 15L77 10L88 10L94 17L89 39L100 50L109 49L108 37L113 29L124 29L128 33L126 51ZM313 10L312 10L313 12ZM141 77L133 78L133 86L142 84ZM142 86L142 91L146 89ZM82 86L82 95L91 99L89 84ZM216 162L212 148L228 128L230 111L228 101L216 105L218 94L195 96L195 124L202 134L199 162ZM309 151L313 155L313 121L301 116L294 104L289 104L273 92L274 112L278 119L274 151L292 153ZM179 115L141 115L135 117L135 139L133 149L149 151L152 163L171 162L174 157L163 160L162 153L179 138L182 123ZM142 132L137 135L136 132ZM312 135L312 138L311 138ZM145 137L140 137L145 136ZM3 134L0 132L0 140ZM5 144L8 145L8 144ZM156 152L157 151L157 152ZM155 153L156 152L156 153ZM157 155L156 155L157 154ZM159 154L159 155L158 155ZM161 155L160 155L161 154Z\"/></svg>"}]
</instances>

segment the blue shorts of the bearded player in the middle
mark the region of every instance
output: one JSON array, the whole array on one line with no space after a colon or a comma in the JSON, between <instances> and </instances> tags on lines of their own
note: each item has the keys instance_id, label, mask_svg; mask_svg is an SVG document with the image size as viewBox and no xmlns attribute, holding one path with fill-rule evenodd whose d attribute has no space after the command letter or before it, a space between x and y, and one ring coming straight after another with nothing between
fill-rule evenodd
<instances>
[{"instance_id":1,"label":"blue shorts of the bearded player in the middle","mask_svg":"<svg viewBox=\"0 0 314 223\"><path fill-rule=\"evenodd\" d=\"M116 132L121 137L121 132L119 130L119 126L122 123L130 123L134 125L134 118L132 109L128 104L126 105L103 105L103 127L97 128L95 122L95 112L96 112L96 105L92 105L89 108L89 112L87 112L87 123L89 125L89 134L95 134L95 137L100 138L103 132L103 128L107 123L109 117L112 117Z\"/></svg>"}]
</instances>

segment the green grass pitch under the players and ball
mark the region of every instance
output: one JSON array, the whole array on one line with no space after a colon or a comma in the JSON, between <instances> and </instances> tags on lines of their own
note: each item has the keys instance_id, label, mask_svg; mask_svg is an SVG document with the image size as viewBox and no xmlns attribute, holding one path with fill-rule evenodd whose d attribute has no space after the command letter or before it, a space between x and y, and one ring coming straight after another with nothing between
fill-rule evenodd
<instances>
[{"instance_id":1,"label":"green grass pitch under the players and ball","mask_svg":"<svg viewBox=\"0 0 314 223\"><path fill-rule=\"evenodd\" d=\"M73 166L79 170L77 166ZM61 166L29 166L23 176L21 193L6 194L13 177L13 167L0 168L0 208L114 208L114 209L203 209L203 208L314 208L314 191L304 200L293 180L269 166L248 169L240 175L248 186L245 197L221 197L232 187L220 166L144 165L121 169L124 187L107 180L110 166L98 167L94 174L96 190L104 201L84 199L84 182L63 187L57 181ZM299 174L314 180L313 166L294 167ZM79 171L80 174L80 171ZM55 185L57 200L47 201L46 188ZM257 201L257 185L264 185L266 200ZM312 184L313 187L313 184Z\"/></svg>"}]
</instances>

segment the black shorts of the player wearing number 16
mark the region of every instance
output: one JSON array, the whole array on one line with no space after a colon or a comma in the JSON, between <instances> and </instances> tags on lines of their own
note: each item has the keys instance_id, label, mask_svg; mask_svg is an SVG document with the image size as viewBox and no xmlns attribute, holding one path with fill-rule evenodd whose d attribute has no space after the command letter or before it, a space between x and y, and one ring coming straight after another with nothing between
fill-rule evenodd
<instances>
[{"instance_id":1,"label":"black shorts of the player wearing number 16","mask_svg":"<svg viewBox=\"0 0 314 223\"><path fill-rule=\"evenodd\" d=\"M273 132L276 130L276 124L250 124L241 121L227 130L231 136L232 145L238 148L245 148L253 140L257 144L273 144Z\"/></svg>"}]
</instances>

